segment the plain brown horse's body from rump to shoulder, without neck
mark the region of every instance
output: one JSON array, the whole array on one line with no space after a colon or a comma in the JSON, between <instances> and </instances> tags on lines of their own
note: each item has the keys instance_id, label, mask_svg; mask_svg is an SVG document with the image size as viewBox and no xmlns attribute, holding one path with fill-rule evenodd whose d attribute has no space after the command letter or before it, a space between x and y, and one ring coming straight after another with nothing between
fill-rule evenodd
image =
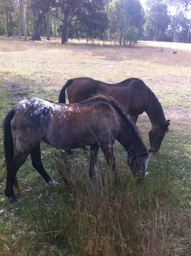
<instances>
[{"instance_id":1,"label":"plain brown horse's body from rump to shoulder, without neck","mask_svg":"<svg viewBox=\"0 0 191 256\"><path fill-rule=\"evenodd\" d=\"M69 103L78 103L98 94L111 96L120 103L126 113L135 115L145 111L149 100L147 86L137 78L108 84L90 77L78 77L73 79L67 90Z\"/></svg>"}]
</instances>

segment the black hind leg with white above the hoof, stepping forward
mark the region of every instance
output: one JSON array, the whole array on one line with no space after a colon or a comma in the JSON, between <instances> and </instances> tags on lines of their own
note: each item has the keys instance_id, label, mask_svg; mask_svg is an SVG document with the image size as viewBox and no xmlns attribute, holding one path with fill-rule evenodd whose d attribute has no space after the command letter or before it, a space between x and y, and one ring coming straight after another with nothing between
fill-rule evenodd
<instances>
[{"instance_id":1,"label":"black hind leg with white above the hoof, stepping forward","mask_svg":"<svg viewBox=\"0 0 191 256\"><path fill-rule=\"evenodd\" d=\"M38 144L31 151L31 160L33 167L37 170L37 172L42 176L46 185L51 186L52 188L56 186L56 182L48 175L45 171L44 166L41 160L41 152L40 152L40 144Z\"/></svg>"}]
</instances>

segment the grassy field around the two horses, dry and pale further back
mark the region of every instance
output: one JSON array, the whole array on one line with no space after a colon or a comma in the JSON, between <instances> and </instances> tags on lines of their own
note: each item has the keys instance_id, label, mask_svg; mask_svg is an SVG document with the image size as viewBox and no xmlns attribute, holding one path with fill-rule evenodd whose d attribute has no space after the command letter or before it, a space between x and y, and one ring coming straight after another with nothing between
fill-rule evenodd
<instances>
[{"instance_id":1,"label":"grassy field around the two horses, dry and pale further back","mask_svg":"<svg viewBox=\"0 0 191 256\"><path fill-rule=\"evenodd\" d=\"M101 41L61 45L59 38L0 37L0 255L191 255L190 68L190 44L140 41L125 48ZM88 176L88 151L74 150L67 162L62 151L41 143L45 169L59 186L46 187L28 157L17 173L18 201L9 203L5 115L25 97L58 101L66 81L80 76L107 83L138 77L158 97L171 121L159 152L151 155L144 184L135 185L127 152L117 142L117 176L113 179L99 152L96 184ZM137 126L149 148L145 113Z\"/></svg>"}]
</instances>

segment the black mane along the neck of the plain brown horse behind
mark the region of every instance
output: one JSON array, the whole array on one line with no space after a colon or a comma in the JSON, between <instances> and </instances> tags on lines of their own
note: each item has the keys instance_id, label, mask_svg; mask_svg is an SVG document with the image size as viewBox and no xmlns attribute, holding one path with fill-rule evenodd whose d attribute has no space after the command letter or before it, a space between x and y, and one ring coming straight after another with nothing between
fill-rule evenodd
<instances>
[{"instance_id":1,"label":"black mane along the neck of the plain brown horse behind","mask_svg":"<svg viewBox=\"0 0 191 256\"><path fill-rule=\"evenodd\" d=\"M152 116L153 119L158 120L159 123L161 124L161 128L166 128L166 118L164 116L163 108L155 96L154 92L151 91L151 89L141 80L138 78L129 78L126 79L125 81L128 80L137 80L139 83L141 83L147 92L149 92L149 102L148 102L148 109L147 109L147 115L150 117ZM168 128L167 128L168 131Z\"/></svg>"}]
</instances>

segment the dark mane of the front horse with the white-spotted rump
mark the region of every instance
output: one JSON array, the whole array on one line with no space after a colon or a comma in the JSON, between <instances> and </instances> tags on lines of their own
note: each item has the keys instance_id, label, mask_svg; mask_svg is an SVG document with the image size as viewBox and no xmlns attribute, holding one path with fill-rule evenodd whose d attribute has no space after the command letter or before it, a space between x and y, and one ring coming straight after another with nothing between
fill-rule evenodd
<instances>
[{"instance_id":1,"label":"dark mane of the front horse with the white-spotted rump","mask_svg":"<svg viewBox=\"0 0 191 256\"><path fill-rule=\"evenodd\" d=\"M122 109L121 105L118 103L117 100L115 100L113 97L110 96L103 96L103 95L93 95L92 98L89 98L87 100L81 101L79 103L74 103L75 105L87 105L87 104L93 104L95 102L105 102L111 105L119 113L119 115L123 118L123 120L126 122L128 127L133 131L134 134L138 136L139 141L141 142L143 148L147 152L147 147L145 143L143 142L141 136L139 135L137 127L134 125L134 123L131 121L128 115L126 115L125 111Z\"/></svg>"}]
</instances>

